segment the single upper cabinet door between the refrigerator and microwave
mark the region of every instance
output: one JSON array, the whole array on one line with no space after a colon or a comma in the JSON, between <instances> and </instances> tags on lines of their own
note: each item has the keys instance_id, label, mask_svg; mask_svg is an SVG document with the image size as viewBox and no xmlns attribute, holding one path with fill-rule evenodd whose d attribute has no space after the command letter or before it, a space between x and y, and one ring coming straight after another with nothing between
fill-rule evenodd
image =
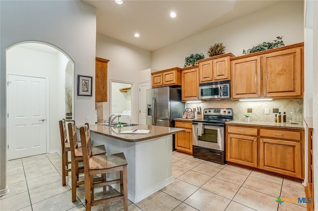
<instances>
[{"instance_id":1,"label":"single upper cabinet door between the refrigerator and microwave","mask_svg":"<svg viewBox=\"0 0 318 211\"><path fill-rule=\"evenodd\" d=\"M182 101L199 99L199 69L197 67L182 71Z\"/></svg>"}]
</instances>

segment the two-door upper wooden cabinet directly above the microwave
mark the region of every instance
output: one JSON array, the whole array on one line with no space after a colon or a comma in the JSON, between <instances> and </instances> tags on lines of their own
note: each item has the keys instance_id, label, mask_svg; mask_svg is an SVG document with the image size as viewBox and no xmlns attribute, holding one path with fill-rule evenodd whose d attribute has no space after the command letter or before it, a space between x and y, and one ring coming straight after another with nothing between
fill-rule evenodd
<instances>
[{"instance_id":1,"label":"two-door upper wooden cabinet directly above the microwave","mask_svg":"<svg viewBox=\"0 0 318 211\"><path fill-rule=\"evenodd\" d=\"M198 60L199 83L230 80L230 58L232 53L225 53Z\"/></svg>"}]
</instances>

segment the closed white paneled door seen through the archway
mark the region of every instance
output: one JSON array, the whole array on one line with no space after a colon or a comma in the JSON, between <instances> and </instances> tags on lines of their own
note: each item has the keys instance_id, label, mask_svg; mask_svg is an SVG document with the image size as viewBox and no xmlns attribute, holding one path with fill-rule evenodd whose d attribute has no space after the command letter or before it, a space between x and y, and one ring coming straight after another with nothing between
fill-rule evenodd
<instances>
[{"instance_id":1,"label":"closed white paneled door seen through the archway","mask_svg":"<svg viewBox=\"0 0 318 211\"><path fill-rule=\"evenodd\" d=\"M8 159L46 153L46 79L8 74Z\"/></svg>"}]
</instances>

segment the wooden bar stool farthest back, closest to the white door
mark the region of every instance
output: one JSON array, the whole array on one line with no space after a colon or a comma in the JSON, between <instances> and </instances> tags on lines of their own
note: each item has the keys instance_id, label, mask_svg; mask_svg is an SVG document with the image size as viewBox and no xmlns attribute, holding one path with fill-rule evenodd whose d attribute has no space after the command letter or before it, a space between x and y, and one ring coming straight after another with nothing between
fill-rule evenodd
<instances>
[{"instance_id":1,"label":"wooden bar stool farthest back, closest to the white door","mask_svg":"<svg viewBox=\"0 0 318 211\"><path fill-rule=\"evenodd\" d=\"M71 151L70 142L68 142L68 135L66 131L65 119L59 121L60 135L61 135L61 152L62 152L62 185L66 185L66 176L69 175L69 161L68 152Z\"/></svg>"}]
</instances>

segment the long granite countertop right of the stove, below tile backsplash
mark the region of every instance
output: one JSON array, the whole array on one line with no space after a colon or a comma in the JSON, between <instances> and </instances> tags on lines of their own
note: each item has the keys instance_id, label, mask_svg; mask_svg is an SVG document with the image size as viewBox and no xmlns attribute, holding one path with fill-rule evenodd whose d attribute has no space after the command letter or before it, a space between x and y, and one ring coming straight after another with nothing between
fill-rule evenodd
<instances>
[{"instance_id":1,"label":"long granite countertop right of the stove, below tile backsplash","mask_svg":"<svg viewBox=\"0 0 318 211\"><path fill-rule=\"evenodd\" d=\"M282 128L282 129L305 129L304 123L302 124L290 124L290 123L276 123L276 122L257 122L257 121L228 121L227 125L235 124L235 125L244 125L244 126L260 126L260 127L274 127L274 128Z\"/></svg>"}]
</instances>

